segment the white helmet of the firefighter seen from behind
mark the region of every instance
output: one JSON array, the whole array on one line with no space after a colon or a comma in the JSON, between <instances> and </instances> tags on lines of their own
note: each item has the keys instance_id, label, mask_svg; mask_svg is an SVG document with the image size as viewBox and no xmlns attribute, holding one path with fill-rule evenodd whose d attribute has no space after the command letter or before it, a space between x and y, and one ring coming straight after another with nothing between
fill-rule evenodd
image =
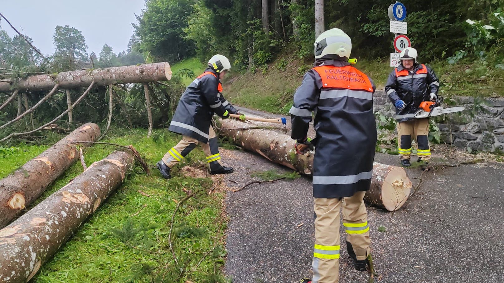
<instances>
[{"instance_id":1,"label":"white helmet of the firefighter seen from behind","mask_svg":"<svg viewBox=\"0 0 504 283\"><path fill-rule=\"evenodd\" d=\"M345 61L352 52L352 40L340 29L330 29L323 32L315 40L315 59L326 55L338 55Z\"/></svg>"}]
</instances>

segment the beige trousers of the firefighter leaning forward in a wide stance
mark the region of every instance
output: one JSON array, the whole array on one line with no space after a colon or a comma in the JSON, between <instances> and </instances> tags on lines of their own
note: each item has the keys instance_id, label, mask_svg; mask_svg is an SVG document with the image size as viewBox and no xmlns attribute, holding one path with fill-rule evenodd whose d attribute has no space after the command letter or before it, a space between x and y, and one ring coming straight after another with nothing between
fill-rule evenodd
<instances>
[{"instance_id":1,"label":"beige trousers of the firefighter leaning forward in a wide stance","mask_svg":"<svg viewBox=\"0 0 504 283\"><path fill-rule=\"evenodd\" d=\"M161 160L164 164L166 164L166 166L173 168L173 166L185 158L197 145L201 145L203 152L207 156L207 162L210 165L210 170L215 171L222 167L220 163L221 157L218 141L212 125L210 125L210 129L208 131L208 143L202 144L196 138L182 135L180 142L171 148Z\"/></svg>"}]
</instances>

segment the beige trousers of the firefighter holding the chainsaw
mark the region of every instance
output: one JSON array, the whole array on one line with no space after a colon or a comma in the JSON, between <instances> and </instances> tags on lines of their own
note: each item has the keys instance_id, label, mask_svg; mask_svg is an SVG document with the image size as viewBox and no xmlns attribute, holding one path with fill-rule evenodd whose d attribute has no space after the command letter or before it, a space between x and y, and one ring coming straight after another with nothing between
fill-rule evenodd
<instances>
[{"instance_id":1,"label":"beige trousers of the firefighter holding the chainsaw","mask_svg":"<svg viewBox=\"0 0 504 283\"><path fill-rule=\"evenodd\" d=\"M399 157L401 160L410 159L413 151L412 138L416 140L418 157L428 161L430 159L429 148L429 118L415 119L397 123L397 139Z\"/></svg>"}]
</instances>

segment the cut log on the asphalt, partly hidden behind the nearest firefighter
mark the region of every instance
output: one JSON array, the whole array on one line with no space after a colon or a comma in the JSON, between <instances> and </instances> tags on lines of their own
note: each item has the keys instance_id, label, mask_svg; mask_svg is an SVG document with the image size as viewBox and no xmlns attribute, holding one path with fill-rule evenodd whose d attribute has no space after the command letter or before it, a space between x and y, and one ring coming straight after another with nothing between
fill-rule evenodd
<instances>
[{"instance_id":1,"label":"cut log on the asphalt, partly hidden behind the nearest firefighter","mask_svg":"<svg viewBox=\"0 0 504 283\"><path fill-rule=\"evenodd\" d=\"M298 155L290 136L268 129L236 129L249 125L236 120L220 120L221 132L236 145L255 152L266 159L310 175L313 170L313 154ZM226 130L228 128L229 130ZM397 166L374 163L371 189L365 200L389 211L401 208L411 192L412 184L406 170Z\"/></svg>"}]
</instances>

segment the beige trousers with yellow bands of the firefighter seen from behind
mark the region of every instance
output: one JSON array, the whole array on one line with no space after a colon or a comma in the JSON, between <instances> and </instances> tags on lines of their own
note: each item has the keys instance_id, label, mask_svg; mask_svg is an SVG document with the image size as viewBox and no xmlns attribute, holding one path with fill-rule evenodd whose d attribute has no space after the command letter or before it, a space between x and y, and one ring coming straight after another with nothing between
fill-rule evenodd
<instances>
[{"instance_id":1,"label":"beige trousers with yellow bands of the firefighter seen from behind","mask_svg":"<svg viewBox=\"0 0 504 283\"><path fill-rule=\"evenodd\" d=\"M369 254L369 227L364 205L364 191L341 198L314 198L315 247L313 251L312 283L337 283L340 258L340 210L343 208L343 227L347 245L351 244L357 260Z\"/></svg>"}]
</instances>

